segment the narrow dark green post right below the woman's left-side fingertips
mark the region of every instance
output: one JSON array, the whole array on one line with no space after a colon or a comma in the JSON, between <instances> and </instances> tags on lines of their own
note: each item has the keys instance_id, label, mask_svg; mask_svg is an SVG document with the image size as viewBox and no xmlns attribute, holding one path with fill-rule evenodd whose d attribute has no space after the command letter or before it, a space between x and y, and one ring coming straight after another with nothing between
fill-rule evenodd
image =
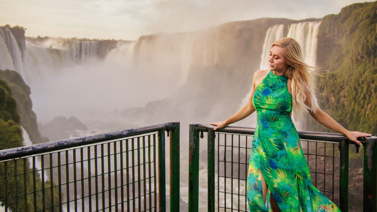
<instances>
[{"instance_id":1,"label":"narrow dark green post right below the woman's left-side fingertips","mask_svg":"<svg viewBox=\"0 0 377 212\"><path fill-rule=\"evenodd\" d=\"M208 142L208 212L215 212L215 132L207 131Z\"/></svg>"}]
</instances>

